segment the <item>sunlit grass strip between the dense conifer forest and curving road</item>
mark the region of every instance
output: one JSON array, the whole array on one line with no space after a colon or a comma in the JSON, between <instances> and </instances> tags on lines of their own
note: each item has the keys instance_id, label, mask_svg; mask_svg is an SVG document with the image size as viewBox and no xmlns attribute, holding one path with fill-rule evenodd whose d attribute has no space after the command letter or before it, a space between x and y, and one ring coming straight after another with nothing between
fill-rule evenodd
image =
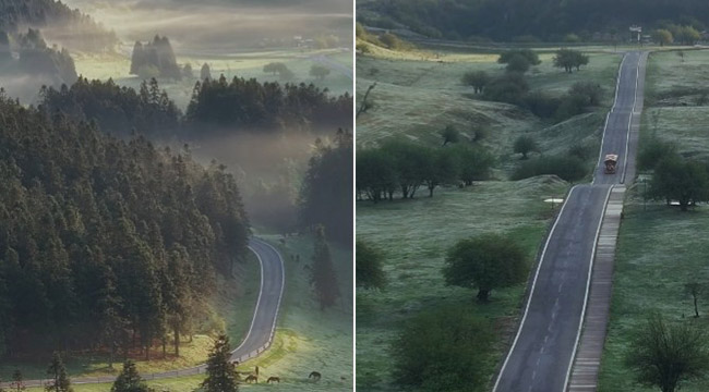
<instances>
[{"instance_id":1,"label":"sunlit grass strip between the dense conifer forest and curving road","mask_svg":"<svg viewBox=\"0 0 709 392\"><path fill-rule=\"evenodd\" d=\"M208 304L209 311L216 314L215 318L224 320L232 344L241 342L249 331L260 284L260 281L252 277L259 277L260 273L259 261L250 253L245 264L238 266L237 278L218 278L217 291ZM161 347L153 347L149 362L137 354L132 354L131 359L135 362L137 370L143 375L182 369L204 364L213 344L213 336L199 333L193 336L192 342L189 342L187 336L182 336L179 357L173 355L173 348L168 344L166 357L163 357ZM13 360L11 364L0 362L0 377L10 380L12 372L20 369L27 380L44 379L49 359L45 360L46 364L36 358ZM109 358L106 354L72 355L63 359L70 377L97 377L118 375L123 358L121 356L115 358L112 369L108 367Z\"/></svg>"}]
</instances>

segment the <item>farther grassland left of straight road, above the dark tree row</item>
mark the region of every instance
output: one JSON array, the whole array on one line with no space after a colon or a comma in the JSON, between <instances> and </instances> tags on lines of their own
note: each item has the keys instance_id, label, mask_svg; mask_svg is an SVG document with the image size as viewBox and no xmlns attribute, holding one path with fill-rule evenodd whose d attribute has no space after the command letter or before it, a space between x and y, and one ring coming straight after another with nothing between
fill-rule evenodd
<instances>
[{"instance_id":1,"label":"farther grassland left of straight road, above the dark tree row","mask_svg":"<svg viewBox=\"0 0 709 392\"><path fill-rule=\"evenodd\" d=\"M358 118L358 147L372 147L390 137L437 144L438 132L446 125L456 126L469 137L478 130L488 131L484 144L500 157L503 168L516 163L512 145L521 134L534 137L545 154L565 152L562 149L577 144L591 150L600 146L604 109L612 105L620 54L589 53L590 64L573 74L553 68L551 52L540 54L542 63L528 73L532 90L561 96L579 81L593 81L605 90L600 110L555 125L515 106L480 100L462 85L460 78L468 71L503 74L504 65L496 63L496 54L429 54L377 48L373 56L358 57L358 101L372 83L377 83L370 95L374 108Z\"/></svg>"}]
</instances>

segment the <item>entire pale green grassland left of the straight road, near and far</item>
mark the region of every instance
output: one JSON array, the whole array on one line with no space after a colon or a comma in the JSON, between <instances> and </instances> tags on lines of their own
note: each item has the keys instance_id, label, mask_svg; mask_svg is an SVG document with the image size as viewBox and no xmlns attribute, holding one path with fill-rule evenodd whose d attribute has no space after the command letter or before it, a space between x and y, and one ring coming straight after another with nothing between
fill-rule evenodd
<instances>
[{"instance_id":1,"label":"entire pale green grassland left of the straight road, near and far","mask_svg":"<svg viewBox=\"0 0 709 392\"><path fill-rule=\"evenodd\" d=\"M532 90L553 96L564 95L578 81L592 81L604 88L602 105L596 111L558 124L512 105L483 101L461 84L468 71L503 74L497 54L372 47L369 54L358 57L359 102L376 82L370 95L374 107L358 118L360 150L390 138L441 146L438 133L454 125L468 139L484 131L481 143L497 158L493 181L464 189L444 188L433 198L358 204L358 238L386 253L384 269L389 280L382 292L357 291L358 388L400 390L392 379L390 343L412 316L444 305L472 307L474 314L492 321L497 334L484 369L492 379L515 331L526 285L494 291L490 304L480 304L473 291L444 284L441 268L445 252L461 238L506 232L520 241L534 260L555 212L544 199L564 197L569 184L555 176L505 181L519 162L513 143L520 135L531 135L544 155L564 155L570 147L582 145L592 151L589 168L596 162L621 62L612 48L598 49L590 53L588 68L570 75L552 66L551 51L541 51L542 64L527 74Z\"/></svg>"}]
</instances>

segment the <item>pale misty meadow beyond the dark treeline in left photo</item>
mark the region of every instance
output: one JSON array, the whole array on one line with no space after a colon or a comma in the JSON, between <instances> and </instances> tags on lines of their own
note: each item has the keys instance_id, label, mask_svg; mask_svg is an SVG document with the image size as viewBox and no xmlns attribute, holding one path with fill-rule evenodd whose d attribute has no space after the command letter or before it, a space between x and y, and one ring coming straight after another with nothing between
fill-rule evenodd
<instances>
[{"instance_id":1,"label":"pale misty meadow beyond the dark treeline in left photo","mask_svg":"<svg viewBox=\"0 0 709 392\"><path fill-rule=\"evenodd\" d=\"M131 68L130 53L100 56L76 53L73 57L76 63L76 72L89 79L98 78L105 81L111 77L119 85L134 88L141 84L141 78L129 75ZM193 68L195 78L185 78L180 82L160 81L160 85L168 91L170 98L175 100L178 107L184 110L190 102L192 89L200 75L200 69L204 63L211 65L213 77L218 77L220 74L224 74L228 79L231 79L233 76L239 76L244 78L255 77L261 82L275 82L278 81L278 76L264 73L263 66L269 62L283 62L296 75L296 78L289 83L312 83L317 87L329 89L334 95L352 94L351 75L347 75L336 69L332 69L331 74L323 81L319 81L309 75L310 68L315 63L320 63L320 57L325 57L329 61L349 69L352 68L352 53L345 49L302 51L284 49L231 54L181 54L178 52L178 63L190 63Z\"/></svg>"}]
</instances>

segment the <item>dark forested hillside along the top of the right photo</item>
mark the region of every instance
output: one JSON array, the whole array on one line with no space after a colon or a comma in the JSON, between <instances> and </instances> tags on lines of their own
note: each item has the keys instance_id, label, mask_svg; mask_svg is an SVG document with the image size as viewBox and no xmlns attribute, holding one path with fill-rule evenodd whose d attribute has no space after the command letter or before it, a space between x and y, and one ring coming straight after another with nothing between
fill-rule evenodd
<instances>
[{"instance_id":1,"label":"dark forested hillside along the top of the right photo","mask_svg":"<svg viewBox=\"0 0 709 392\"><path fill-rule=\"evenodd\" d=\"M433 38L561 41L574 33L628 37L632 24L665 24L702 30L704 0L374 0L358 3L358 20L384 28L407 27Z\"/></svg>"}]
</instances>

